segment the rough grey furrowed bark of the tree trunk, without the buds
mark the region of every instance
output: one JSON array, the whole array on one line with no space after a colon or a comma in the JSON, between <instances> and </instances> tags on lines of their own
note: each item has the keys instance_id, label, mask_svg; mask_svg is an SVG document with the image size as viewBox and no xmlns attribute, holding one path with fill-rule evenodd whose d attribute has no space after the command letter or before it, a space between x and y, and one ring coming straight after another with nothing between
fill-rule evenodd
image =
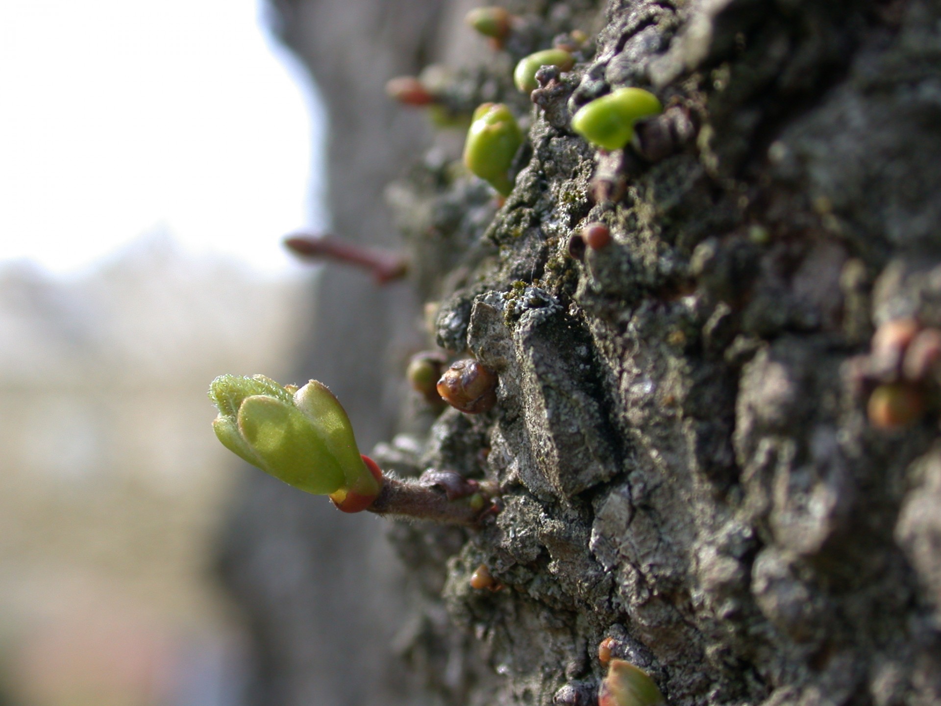
<instances>
[{"instance_id":1,"label":"rough grey furrowed bark of the tree trunk, without the buds","mask_svg":"<svg viewBox=\"0 0 941 706\"><path fill-rule=\"evenodd\" d=\"M589 704L607 636L672 704L941 701L937 383L885 430L853 373L886 322L941 328L941 4L506 5L525 30L475 54L460 3L277 4L330 105L337 232L393 243L385 194L413 263L382 293L325 274L302 372L385 466L503 495L479 531L385 525L398 558L371 564L380 525L253 479L224 566L257 702ZM576 27L575 69L516 93L512 61ZM441 56L455 94L528 120L499 208L382 95ZM621 86L667 107L647 158L568 128ZM614 242L572 257L593 220ZM495 409L409 396L423 302L441 347L499 373ZM501 590L471 588L480 564Z\"/></svg>"}]
</instances>

